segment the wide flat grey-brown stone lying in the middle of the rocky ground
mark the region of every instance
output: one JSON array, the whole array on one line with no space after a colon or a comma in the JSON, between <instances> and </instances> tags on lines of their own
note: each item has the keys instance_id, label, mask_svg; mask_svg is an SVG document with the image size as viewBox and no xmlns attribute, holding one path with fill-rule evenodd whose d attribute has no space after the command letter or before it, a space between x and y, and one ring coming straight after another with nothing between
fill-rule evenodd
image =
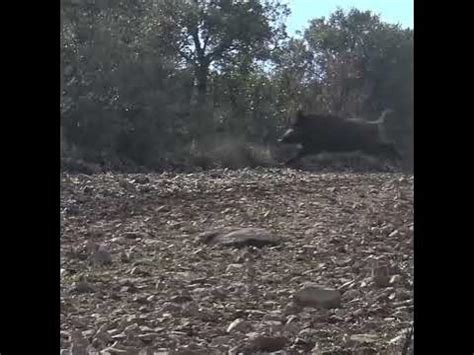
<instances>
[{"instance_id":1,"label":"wide flat grey-brown stone lying in the middle of the rocky ground","mask_svg":"<svg viewBox=\"0 0 474 355\"><path fill-rule=\"evenodd\" d=\"M269 231L261 228L223 229L201 233L198 239L206 244L243 247L277 245L281 240Z\"/></svg>"}]
</instances>

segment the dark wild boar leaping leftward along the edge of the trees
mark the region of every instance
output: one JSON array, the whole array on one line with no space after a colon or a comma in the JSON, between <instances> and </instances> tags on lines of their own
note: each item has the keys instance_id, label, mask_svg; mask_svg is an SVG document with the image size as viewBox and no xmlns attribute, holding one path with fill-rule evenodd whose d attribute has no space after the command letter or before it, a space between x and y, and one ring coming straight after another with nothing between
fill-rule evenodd
<instances>
[{"instance_id":1,"label":"dark wild boar leaping leftward along the edge of the trees","mask_svg":"<svg viewBox=\"0 0 474 355\"><path fill-rule=\"evenodd\" d=\"M298 111L291 128L278 140L280 143L300 144L298 154L288 160L292 164L304 156L327 153L362 152L384 157L392 161L401 160L393 143L384 137L385 110L374 122L347 119L334 115L305 115Z\"/></svg>"}]
</instances>

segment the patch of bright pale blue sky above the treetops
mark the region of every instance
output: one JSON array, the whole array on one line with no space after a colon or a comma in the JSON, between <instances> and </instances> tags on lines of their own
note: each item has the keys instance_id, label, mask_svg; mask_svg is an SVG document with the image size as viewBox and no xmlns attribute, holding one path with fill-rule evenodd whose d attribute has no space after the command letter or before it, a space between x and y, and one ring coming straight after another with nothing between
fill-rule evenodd
<instances>
[{"instance_id":1,"label":"patch of bright pale blue sky above the treetops","mask_svg":"<svg viewBox=\"0 0 474 355\"><path fill-rule=\"evenodd\" d=\"M302 31L308 21L317 17L328 18L339 6L344 11L355 7L370 10L388 23L399 23L403 28L413 28L413 0L286 0L291 9L288 17L288 33Z\"/></svg>"}]
</instances>

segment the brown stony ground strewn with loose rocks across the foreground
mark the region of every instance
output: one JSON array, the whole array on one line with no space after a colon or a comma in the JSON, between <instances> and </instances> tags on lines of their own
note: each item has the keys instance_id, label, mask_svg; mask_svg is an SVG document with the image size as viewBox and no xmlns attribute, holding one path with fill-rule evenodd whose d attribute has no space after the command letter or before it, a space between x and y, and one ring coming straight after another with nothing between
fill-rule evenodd
<instances>
[{"instance_id":1,"label":"brown stony ground strewn with loose rocks across the foreground","mask_svg":"<svg viewBox=\"0 0 474 355\"><path fill-rule=\"evenodd\" d=\"M412 176L61 175L65 354L400 354L412 320Z\"/></svg>"}]
</instances>

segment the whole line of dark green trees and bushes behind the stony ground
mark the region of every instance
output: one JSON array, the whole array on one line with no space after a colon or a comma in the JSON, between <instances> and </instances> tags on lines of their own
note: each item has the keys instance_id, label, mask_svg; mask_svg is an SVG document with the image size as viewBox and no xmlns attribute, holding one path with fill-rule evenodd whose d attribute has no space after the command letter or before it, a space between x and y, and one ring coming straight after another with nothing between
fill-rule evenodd
<instances>
[{"instance_id":1,"label":"whole line of dark green trees and bushes behind the stony ground","mask_svg":"<svg viewBox=\"0 0 474 355\"><path fill-rule=\"evenodd\" d=\"M279 0L62 0L61 154L103 168L258 166L299 108L376 119L413 160L413 31ZM69 159L69 160L67 160Z\"/></svg>"}]
</instances>

